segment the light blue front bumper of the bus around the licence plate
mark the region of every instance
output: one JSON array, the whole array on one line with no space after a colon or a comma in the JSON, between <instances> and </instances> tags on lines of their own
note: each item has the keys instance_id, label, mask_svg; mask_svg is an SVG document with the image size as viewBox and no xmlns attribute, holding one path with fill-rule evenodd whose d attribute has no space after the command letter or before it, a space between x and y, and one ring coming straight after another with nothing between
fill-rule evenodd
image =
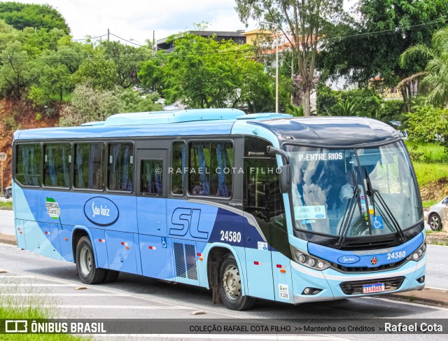
<instances>
[{"instance_id":1,"label":"light blue front bumper of the bus around the licence plate","mask_svg":"<svg viewBox=\"0 0 448 341\"><path fill-rule=\"evenodd\" d=\"M347 274L333 269L317 271L295 263L293 260L291 260L291 270L293 277L294 304L325 300L341 300L343 298L356 298L423 289L425 282L418 281L417 279L421 279L421 277L425 275L426 255L418 262L409 260L397 269L381 272ZM358 289L355 289L355 292L358 292L359 288L362 290L363 282L365 284L384 283L386 291L368 294L349 293L353 288ZM396 285L396 288L390 290L395 286L388 286L388 284ZM305 288L310 288L311 293L315 294L305 294ZM349 290L347 290L347 288L349 288Z\"/></svg>"}]
</instances>

